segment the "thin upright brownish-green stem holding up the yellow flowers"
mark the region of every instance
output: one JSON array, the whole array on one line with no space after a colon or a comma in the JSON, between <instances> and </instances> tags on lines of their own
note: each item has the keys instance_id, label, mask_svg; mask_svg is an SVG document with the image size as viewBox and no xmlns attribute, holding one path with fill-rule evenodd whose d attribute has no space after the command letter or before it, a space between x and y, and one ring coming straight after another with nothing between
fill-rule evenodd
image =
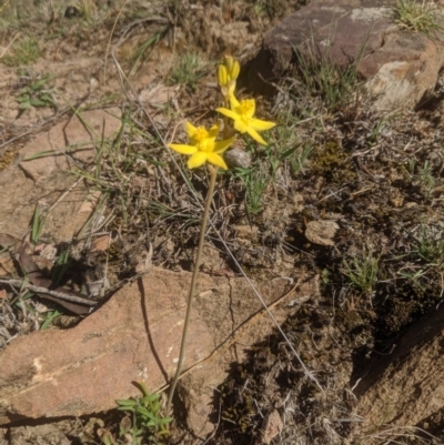
<instances>
[{"instance_id":1,"label":"thin upright brownish-green stem holding up the yellow flowers","mask_svg":"<svg viewBox=\"0 0 444 445\"><path fill-rule=\"evenodd\" d=\"M206 232L206 225L208 225L208 220L209 220L210 206L213 201L215 179L218 176L218 169L214 169L211 165L209 165L208 169L210 171L210 185L209 185L209 191L206 194L205 209L203 211L203 216L202 216L201 235L199 239L198 253L196 253L195 263L194 263L194 272L193 272L193 277L191 279L190 294L188 297L186 315L185 315L185 322L183 324L183 333L182 333L181 348L180 348L180 353L179 353L178 368L175 370L174 380L171 383L170 392L168 394L167 413L170 413L175 386L178 385L178 382L179 382L179 378L180 378L180 375L182 372L182 367L183 367L183 358L185 355L186 336L188 336L188 328L190 325L191 310L193 307L195 284L198 282L199 269L201 266L202 247L203 247L203 242L205 240L205 232Z\"/></svg>"}]
</instances>

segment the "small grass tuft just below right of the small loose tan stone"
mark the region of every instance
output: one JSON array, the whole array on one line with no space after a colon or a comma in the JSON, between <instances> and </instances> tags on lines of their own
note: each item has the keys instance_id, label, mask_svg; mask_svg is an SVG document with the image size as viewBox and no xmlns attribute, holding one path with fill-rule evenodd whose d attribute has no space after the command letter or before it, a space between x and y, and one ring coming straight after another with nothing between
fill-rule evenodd
<instances>
[{"instance_id":1,"label":"small grass tuft just below right of the small loose tan stone","mask_svg":"<svg viewBox=\"0 0 444 445\"><path fill-rule=\"evenodd\" d=\"M364 251L362 259L343 260L343 274L353 287L370 295L377 283L379 264L380 259L373 256L372 251Z\"/></svg>"}]
</instances>

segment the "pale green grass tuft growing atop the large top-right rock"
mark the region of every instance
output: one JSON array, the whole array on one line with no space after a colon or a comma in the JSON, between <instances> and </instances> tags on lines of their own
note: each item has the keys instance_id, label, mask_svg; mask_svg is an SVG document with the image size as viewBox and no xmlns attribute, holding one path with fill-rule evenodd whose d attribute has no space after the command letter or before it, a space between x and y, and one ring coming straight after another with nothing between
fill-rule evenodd
<instances>
[{"instance_id":1,"label":"pale green grass tuft growing atop the large top-right rock","mask_svg":"<svg viewBox=\"0 0 444 445\"><path fill-rule=\"evenodd\" d=\"M393 21L401 28L430 36L441 29L436 21L436 4L433 1L397 0L393 9Z\"/></svg>"}]
</instances>

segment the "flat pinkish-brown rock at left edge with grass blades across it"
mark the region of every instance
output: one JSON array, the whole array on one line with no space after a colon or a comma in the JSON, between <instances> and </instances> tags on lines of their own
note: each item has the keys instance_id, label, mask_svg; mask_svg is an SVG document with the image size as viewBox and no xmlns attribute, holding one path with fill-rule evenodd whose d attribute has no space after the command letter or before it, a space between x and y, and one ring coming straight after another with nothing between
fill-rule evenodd
<instances>
[{"instance_id":1,"label":"flat pinkish-brown rock at left edge with grass blades across it","mask_svg":"<svg viewBox=\"0 0 444 445\"><path fill-rule=\"evenodd\" d=\"M88 111L82 113L82 119L89 130L73 117L27 144L20 151L20 165L11 164L0 172L1 231L22 237L37 205L44 212L58 203L44 220L42 236L49 235L58 242L71 240L90 216L97 196L90 194L83 181L67 174L67 170L93 160L93 140L97 145L102 134L111 138L120 128L119 115L119 109ZM81 150L68 155L64 152L67 145L75 144ZM27 156L52 150L59 154L23 161Z\"/></svg>"}]
</instances>

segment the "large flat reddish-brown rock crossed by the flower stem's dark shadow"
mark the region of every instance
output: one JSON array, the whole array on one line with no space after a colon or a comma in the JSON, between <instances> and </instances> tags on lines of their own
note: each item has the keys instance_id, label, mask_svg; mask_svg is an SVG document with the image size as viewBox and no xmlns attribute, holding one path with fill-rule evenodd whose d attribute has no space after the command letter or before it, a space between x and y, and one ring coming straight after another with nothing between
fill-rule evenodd
<instances>
[{"instance_id":1,"label":"large flat reddish-brown rock crossed by the flower stem's dark shadow","mask_svg":"<svg viewBox=\"0 0 444 445\"><path fill-rule=\"evenodd\" d=\"M131 382L145 381L151 391L164 385L176 364L186 274L153 270L75 328L11 343L0 354L2 423L101 412L138 394ZM213 346L205 331L195 312L185 365Z\"/></svg>"}]
</instances>

